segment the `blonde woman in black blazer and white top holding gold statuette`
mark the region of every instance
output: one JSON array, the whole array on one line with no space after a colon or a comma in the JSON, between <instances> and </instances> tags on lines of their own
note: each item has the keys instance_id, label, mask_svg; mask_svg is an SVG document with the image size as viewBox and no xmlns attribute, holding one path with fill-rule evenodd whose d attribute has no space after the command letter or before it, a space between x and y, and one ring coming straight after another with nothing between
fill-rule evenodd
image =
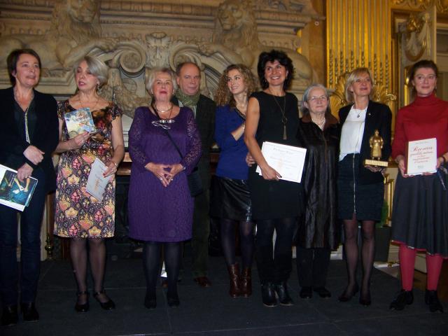
<instances>
[{"instance_id":1,"label":"blonde woman in black blazer and white top holding gold statuette","mask_svg":"<svg viewBox=\"0 0 448 336\"><path fill-rule=\"evenodd\" d=\"M391 118L388 106L370 100L373 78L367 68L353 70L345 85L349 105L339 110L342 132L339 141L338 215L344 222L344 251L349 283L339 301L351 300L358 290L358 222L363 246L363 281L359 302L370 305L370 274L374 259L375 222L381 220L384 202L384 176L380 167L365 166L370 158L370 137L375 130L383 138L381 160L391 155Z\"/></svg>"}]
</instances>

